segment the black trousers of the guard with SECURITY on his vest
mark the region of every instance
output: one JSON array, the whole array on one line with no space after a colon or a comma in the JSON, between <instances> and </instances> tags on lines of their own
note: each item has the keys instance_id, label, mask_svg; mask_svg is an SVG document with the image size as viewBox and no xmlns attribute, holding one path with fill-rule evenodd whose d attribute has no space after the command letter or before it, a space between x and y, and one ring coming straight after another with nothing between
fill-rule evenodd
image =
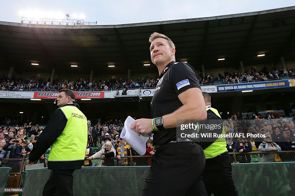
<instances>
[{"instance_id":1,"label":"black trousers of the guard with SECURITY on his vest","mask_svg":"<svg viewBox=\"0 0 295 196\"><path fill-rule=\"evenodd\" d=\"M52 170L43 189L43 196L73 196L73 172L75 170Z\"/></svg>"}]
</instances>

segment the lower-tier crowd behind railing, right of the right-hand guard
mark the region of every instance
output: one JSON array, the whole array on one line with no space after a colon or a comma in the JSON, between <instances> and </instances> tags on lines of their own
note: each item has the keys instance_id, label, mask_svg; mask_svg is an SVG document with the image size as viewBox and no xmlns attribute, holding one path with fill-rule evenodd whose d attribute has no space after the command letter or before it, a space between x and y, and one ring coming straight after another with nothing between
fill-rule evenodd
<instances>
[{"instance_id":1,"label":"lower-tier crowd behind railing, right of the right-hand guard","mask_svg":"<svg viewBox=\"0 0 295 196\"><path fill-rule=\"evenodd\" d=\"M292 121L285 121L283 117L279 117L278 121L274 121L267 117L254 119L254 123L250 120L237 121L230 118L224 121L225 133L233 136L226 138L227 149L229 152L248 153L248 152L279 152L281 150L295 151L295 118ZM248 134L248 137L247 137ZM251 135L250 135L251 134ZM265 136L263 136L265 135ZM283 161L295 161L295 156L288 157L281 154ZM240 163L250 163L250 155L238 155ZM262 162L275 162L274 154L263 154Z\"/></svg>"}]
</instances>

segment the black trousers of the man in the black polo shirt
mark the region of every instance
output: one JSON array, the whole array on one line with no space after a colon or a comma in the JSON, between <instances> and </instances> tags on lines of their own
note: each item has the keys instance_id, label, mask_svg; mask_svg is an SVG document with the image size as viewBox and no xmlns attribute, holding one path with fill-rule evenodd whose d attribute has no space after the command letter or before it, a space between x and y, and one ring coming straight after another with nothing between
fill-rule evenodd
<instances>
[{"instance_id":1,"label":"black trousers of the man in the black polo shirt","mask_svg":"<svg viewBox=\"0 0 295 196\"><path fill-rule=\"evenodd\" d=\"M167 143L157 149L141 196L207 196L202 174L205 155L193 142Z\"/></svg>"}]
</instances>

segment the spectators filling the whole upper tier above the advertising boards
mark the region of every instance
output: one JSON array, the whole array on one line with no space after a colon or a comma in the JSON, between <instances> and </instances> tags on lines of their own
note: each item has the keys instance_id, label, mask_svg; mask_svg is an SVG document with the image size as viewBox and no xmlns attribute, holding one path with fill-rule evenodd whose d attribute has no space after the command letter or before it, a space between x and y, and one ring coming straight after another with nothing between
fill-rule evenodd
<instances>
[{"instance_id":1,"label":"spectators filling the whole upper tier above the advertising boards","mask_svg":"<svg viewBox=\"0 0 295 196\"><path fill-rule=\"evenodd\" d=\"M254 81L266 81L274 79L282 79L284 77L295 78L294 69L273 69L256 71L255 68L245 72L232 72L225 71L224 74L219 73L218 76L213 74L205 74L205 76L200 76L199 83L201 85L214 84L214 81L219 81L219 83L241 83L241 82L254 82ZM36 76L23 79L20 77L14 77L9 79L5 75L0 75L0 89L9 90L32 90L37 89L41 91L50 90L61 90L63 88L68 88L74 91L85 91L85 90L99 90L99 91L110 91L114 89L124 89L124 88L155 88L158 83L159 76L144 76L140 79L104 79L95 81L90 81L89 79L76 78L72 80L67 79L54 79L51 84L50 79L37 78Z\"/></svg>"}]
</instances>

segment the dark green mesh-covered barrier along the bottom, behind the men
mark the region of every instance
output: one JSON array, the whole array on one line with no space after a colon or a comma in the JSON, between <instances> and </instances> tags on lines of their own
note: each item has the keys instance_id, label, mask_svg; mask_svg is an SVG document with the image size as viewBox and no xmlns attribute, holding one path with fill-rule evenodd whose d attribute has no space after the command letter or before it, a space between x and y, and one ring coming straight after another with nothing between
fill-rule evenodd
<instances>
[{"instance_id":1,"label":"dark green mesh-covered barrier along the bottom, behind the men","mask_svg":"<svg viewBox=\"0 0 295 196\"><path fill-rule=\"evenodd\" d=\"M149 168L148 166L82 167L73 174L74 195L140 195ZM232 176L240 196L294 195L294 170L294 162L232 164ZM21 187L24 192L19 196L41 196L50 173L50 170L45 168L22 172Z\"/></svg>"}]
</instances>

